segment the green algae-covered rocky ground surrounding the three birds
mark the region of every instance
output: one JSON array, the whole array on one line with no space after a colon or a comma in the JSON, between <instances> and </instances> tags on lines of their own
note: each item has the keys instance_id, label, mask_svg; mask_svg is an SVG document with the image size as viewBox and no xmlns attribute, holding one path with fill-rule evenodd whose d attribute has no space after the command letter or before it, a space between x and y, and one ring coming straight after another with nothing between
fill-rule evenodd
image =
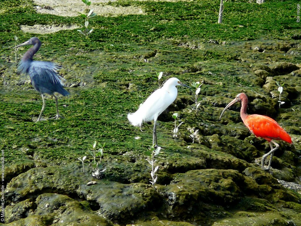
<instances>
[{"instance_id":1,"label":"green algae-covered rocky ground surrounding the three birds","mask_svg":"<svg viewBox=\"0 0 301 226\"><path fill-rule=\"evenodd\" d=\"M301 225L298 2L227 1L217 24L219 2L92 0L98 15L89 20L88 36L77 31L82 1L0 3L2 225ZM78 28L55 32L72 26ZM62 65L71 93L59 96L64 118L58 120L35 123L42 98L29 76L17 73L13 47L34 36L42 42L34 60ZM18 62L28 48L18 49ZM145 154L153 125L141 131L126 116L159 88L161 71L160 83L177 77L203 85L197 110L195 91L178 87L158 118L162 149L153 187ZM283 87L281 108L276 82ZM247 113L275 119L292 138L293 144L278 142L270 172L260 167L270 146L244 126L240 104L219 121L241 92L249 98ZM176 140L173 113L183 122ZM46 96L43 117L55 114ZM89 163L95 140L105 143L99 179Z\"/></svg>"}]
</instances>

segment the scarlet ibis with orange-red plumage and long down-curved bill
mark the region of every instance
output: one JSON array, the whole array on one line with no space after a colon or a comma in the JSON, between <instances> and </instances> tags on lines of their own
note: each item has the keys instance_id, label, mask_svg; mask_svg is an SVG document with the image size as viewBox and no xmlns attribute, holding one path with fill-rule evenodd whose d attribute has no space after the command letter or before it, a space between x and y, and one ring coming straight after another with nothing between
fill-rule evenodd
<instances>
[{"instance_id":1,"label":"scarlet ibis with orange-red plumage and long down-curved bill","mask_svg":"<svg viewBox=\"0 0 301 226\"><path fill-rule=\"evenodd\" d=\"M292 143L292 139L290 138L290 135L288 135L288 133L283 128L281 128L281 126L274 119L264 115L248 115L247 114L248 97L244 93L238 94L235 97L235 99L232 100L224 108L221 116L219 117L219 120L221 120L222 115L224 114L226 109L229 108L231 105L235 104L236 102L241 102L240 117L243 120L244 124L256 137L262 137L263 139L267 140L271 147L271 151L264 154L261 159L261 167L262 169L265 169L264 168L265 159L268 155L270 155L268 168L265 169L269 171L274 152L279 148L279 144L276 143L274 140L284 140L288 143ZM272 143L275 144L276 146L275 148L273 148Z\"/></svg>"}]
</instances>

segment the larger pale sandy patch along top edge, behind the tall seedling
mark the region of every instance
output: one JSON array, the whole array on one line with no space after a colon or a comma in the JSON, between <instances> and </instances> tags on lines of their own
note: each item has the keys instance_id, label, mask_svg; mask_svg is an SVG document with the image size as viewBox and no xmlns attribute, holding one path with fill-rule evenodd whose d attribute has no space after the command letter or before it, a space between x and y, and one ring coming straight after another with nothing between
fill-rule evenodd
<instances>
[{"instance_id":1,"label":"larger pale sandy patch along top edge, behind the tall seedling","mask_svg":"<svg viewBox=\"0 0 301 226\"><path fill-rule=\"evenodd\" d=\"M145 14L139 7L127 6L127 7L114 7L111 5L105 5L107 2L114 2L109 0L92 0L90 9L99 16L119 16L129 14ZM78 16L78 12L84 13L85 4L81 0L34 0L37 5L36 9L38 13L42 14L54 14L59 16Z\"/></svg>"}]
</instances>

